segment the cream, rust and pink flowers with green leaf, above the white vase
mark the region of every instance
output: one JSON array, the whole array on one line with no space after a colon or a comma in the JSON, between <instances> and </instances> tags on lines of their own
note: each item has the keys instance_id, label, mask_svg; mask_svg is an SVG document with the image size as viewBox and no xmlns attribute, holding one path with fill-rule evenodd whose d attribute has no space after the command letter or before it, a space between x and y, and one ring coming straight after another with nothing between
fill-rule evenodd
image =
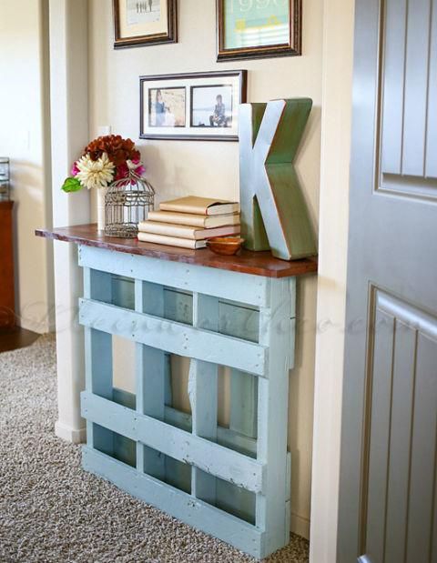
<instances>
[{"instance_id":1,"label":"cream, rust and pink flowers with green leaf, above the white vase","mask_svg":"<svg viewBox=\"0 0 437 563\"><path fill-rule=\"evenodd\" d=\"M62 189L77 192L83 187L107 187L111 182L127 178L131 170L137 176L145 173L134 142L119 135L99 136L73 164L71 176L66 178Z\"/></svg>"}]
</instances>

